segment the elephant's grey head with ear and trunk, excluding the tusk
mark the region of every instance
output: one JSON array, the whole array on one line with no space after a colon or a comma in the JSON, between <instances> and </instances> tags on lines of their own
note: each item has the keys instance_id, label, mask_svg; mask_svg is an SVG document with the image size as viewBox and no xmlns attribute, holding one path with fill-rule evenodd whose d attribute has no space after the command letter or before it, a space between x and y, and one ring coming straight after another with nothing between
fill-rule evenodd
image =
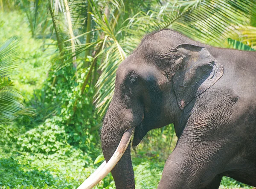
<instances>
[{"instance_id":1,"label":"elephant's grey head with ear and trunk, excluding the tusk","mask_svg":"<svg viewBox=\"0 0 256 189\"><path fill-rule=\"evenodd\" d=\"M119 65L101 134L107 162L128 128L134 130L133 145L137 146L151 129L170 123L178 125L192 99L222 76L222 66L207 48L184 44L176 35L162 30L146 36ZM175 127L175 131L180 133L182 128ZM127 141L128 148L111 171L117 189L135 188Z\"/></svg>"}]
</instances>

